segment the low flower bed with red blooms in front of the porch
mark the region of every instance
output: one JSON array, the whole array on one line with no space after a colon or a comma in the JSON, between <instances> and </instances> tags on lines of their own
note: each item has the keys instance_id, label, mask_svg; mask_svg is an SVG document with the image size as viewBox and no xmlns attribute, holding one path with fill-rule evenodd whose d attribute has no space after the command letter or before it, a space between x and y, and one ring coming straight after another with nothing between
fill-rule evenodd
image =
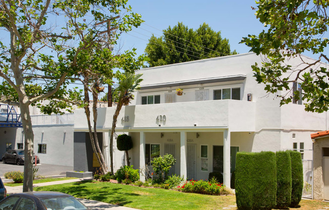
<instances>
[{"instance_id":1,"label":"low flower bed with red blooms in front of the porch","mask_svg":"<svg viewBox=\"0 0 329 210\"><path fill-rule=\"evenodd\" d=\"M216 182L208 182L204 180L186 181L184 184L177 187L182 192L193 192L209 195L228 195L232 192L225 185Z\"/></svg>"}]
</instances>

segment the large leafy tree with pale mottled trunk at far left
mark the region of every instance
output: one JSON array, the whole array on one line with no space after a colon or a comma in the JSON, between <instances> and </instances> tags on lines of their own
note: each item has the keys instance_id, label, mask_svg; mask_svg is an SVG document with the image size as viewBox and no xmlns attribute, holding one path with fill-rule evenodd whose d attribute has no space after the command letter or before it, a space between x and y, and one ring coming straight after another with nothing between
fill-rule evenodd
<instances>
[{"instance_id":1,"label":"large leafy tree with pale mottled trunk at far left","mask_svg":"<svg viewBox=\"0 0 329 210\"><path fill-rule=\"evenodd\" d=\"M101 43L100 32L107 28L112 14L125 10L125 22L140 20L126 2L0 0L0 76L4 78L0 94L1 102L19 106L21 111L25 138L23 191L33 190L34 135L29 106L37 105L47 114L62 113L68 106L67 96L79 97L75 91L66 91L66 87L79 75L80 53ZM96 21L103 23L96 25ZM112 20L110 25L115 27L118 21ZM128 24L127 30L132 25ZM49 104L41 107L38 101L46 98ZM59 98L63 100L58 102Z\"/></svg>"}]
</instances>

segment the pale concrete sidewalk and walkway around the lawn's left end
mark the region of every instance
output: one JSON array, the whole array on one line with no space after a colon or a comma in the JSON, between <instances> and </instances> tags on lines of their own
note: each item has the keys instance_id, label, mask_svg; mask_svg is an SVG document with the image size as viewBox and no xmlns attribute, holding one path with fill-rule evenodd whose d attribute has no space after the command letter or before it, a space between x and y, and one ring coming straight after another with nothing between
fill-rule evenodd
<instances>
[{"instance_id":1,"label":"pale concrete sidewalk and walkway around the lawn's left end","mask_svg":"<svg viewBox=\"0 0 329 210\"><path fill-rule=\"evenodd\" d=\"M41 186L48 186L48 185L56 185L56 184L64 184L64 183L70 183L70 182L80 182L84 180L92 180L92 178L85 178L85 179L70 179L70 180L63 180L63 181L54 181L54 182L45 182L45 183L38 183L33 184L33 187L41 187ZM15 194L23 192L23 186L17 186L17 187L9 187L5 186L7 189L7 194ZM78 198L83 204L88 206L90 209L94 210L136 210L136 208L130 208L120 205L114 205L104 202L99 202L96 200L87 200L87 199L81 199Z\"/></svg>"}]
</instances>

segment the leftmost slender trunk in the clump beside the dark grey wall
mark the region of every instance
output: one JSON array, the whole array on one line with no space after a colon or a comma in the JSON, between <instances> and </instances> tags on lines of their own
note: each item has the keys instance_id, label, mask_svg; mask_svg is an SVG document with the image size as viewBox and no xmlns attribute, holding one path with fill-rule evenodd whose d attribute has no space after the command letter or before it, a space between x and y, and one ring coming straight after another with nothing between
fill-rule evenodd
<instances>
[{"instance_id":1,"label":"leftmost slender trunk in the clump beside the dark grey wall","mask_svg":"<svg viewBox=\"0 0 329 210\"><path fill-rule=\"evenodd\" d=\"M85 99L85 113L86 113L86 117L87 117L87 123L88 123L88 130L89 130L89 137L90 137L90 142L91 142L91 147L93 152L96 154L96 159L98 163L100 162L99 156L97 155L97 150L95 147L95 141L94 141L94 135L96 136L97 133L95 133L94 135L92 134L92 130L91 130L91 124L90 124L90 110L89 110L89 93L88 93L88 76L85 74L84 75L84 99ZM100 168L100 172L102 174L106 174L106 171L102 168Z\"/></svg>"}]
</instances>

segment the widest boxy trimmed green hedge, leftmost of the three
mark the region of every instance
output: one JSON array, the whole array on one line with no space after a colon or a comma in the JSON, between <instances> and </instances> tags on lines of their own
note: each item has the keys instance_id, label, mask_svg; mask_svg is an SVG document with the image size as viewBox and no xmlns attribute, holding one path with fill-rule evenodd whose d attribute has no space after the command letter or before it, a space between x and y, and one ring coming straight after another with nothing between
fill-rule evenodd
<instances>
[{"instance_id":1,"label":"widest boxy trimmed green hedge, leftmost of the three","mask_svg":"<svg viewBox=\"0 0 329 210\"><path fill-rule=\"evenodd\" d=\"M276 206L276 156L274 152L238 152L236 201L239 209L270 209Z\"/></svg>"}]
</instances>

